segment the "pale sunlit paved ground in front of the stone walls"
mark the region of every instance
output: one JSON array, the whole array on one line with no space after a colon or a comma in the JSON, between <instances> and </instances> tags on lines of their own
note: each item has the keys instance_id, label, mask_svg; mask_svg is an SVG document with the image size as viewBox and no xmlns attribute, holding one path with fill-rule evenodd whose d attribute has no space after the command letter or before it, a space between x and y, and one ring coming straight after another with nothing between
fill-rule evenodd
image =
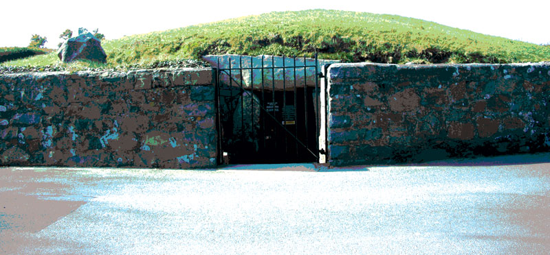
<instances>
[{"instance_id":1,"label":"pale sunlit paved ground in front of the stone walls","mask_svg":"<svg viewBox=\"0 0 550 255\"><path fill-rule=\"evenodd\" d=\"M4 167L0 254L549 254L548 162Z\"/></svg>"}]
</instances>

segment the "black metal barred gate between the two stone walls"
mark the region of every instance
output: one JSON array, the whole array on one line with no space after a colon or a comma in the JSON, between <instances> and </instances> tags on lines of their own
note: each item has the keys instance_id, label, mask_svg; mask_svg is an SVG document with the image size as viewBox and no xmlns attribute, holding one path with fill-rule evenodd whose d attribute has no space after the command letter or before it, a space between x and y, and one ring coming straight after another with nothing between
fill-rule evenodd
<instances>
[{"instance_id":1,"label":"black metal barred gate between the two stone walls","mask_svg":"<svg viewBox=\"0 0 550 255\"><path fill-rule=\"evenodd\" d=\"M224 57L216 72L219 163L318 162L317 55L283 56L282 64L274 56Z\"/></svg>"}]
</instances>

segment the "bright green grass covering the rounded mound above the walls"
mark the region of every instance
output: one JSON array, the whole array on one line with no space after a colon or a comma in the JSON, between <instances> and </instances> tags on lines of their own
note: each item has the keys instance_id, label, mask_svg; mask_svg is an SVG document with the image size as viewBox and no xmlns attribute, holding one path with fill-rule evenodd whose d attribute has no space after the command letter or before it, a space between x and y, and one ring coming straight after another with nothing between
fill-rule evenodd
<instances>
[{"instance_id":1,"label":"bright green grass covering the rounded mound above the walls","mask_svg":"<svg viewBox=\"0 0 550 255\"><path fill-rule=\"evenodd\" d=\"M236 53L313 56L344 62L510 63L550 60L550 47L403 16L305 10L271 12L102 42L105 66ZM55 53L7 65L47 65ZM83 64L86 66L87 64Z\"/></svg>"}]
</instances>

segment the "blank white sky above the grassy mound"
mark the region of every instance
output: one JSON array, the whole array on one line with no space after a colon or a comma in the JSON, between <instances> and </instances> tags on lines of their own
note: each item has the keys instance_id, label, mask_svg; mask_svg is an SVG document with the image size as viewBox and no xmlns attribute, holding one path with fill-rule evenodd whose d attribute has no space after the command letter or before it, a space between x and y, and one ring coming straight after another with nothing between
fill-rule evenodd
<instances>
[{"instance_id":1,"label":"blank white sky above the grassy mound","mask_svg":"<svg viewBox=\"0 0 550 255\"><path fill-rule=\"evenodd\" d=\"M89 3L86 5L85 3ZM272 11L350 10L397 14L537 44L550 43L550 0L6 0L0 5L0 47L26 47L32 34L57 48L65 29L99 28L107 39Z\"/></svg>"}]
</instances>

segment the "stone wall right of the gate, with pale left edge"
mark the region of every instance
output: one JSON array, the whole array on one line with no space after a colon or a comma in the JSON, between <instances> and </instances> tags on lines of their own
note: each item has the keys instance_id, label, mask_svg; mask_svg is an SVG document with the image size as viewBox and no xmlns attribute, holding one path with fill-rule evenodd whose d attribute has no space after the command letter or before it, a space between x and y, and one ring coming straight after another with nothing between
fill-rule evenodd
<instances>
[{"instance_id":1,"label":"stone wall right of the gate, with pale left edge","mask_svg":"<svg viewBox=\"0 0 550 255\"><path fill-rule=\"evenodd\" d=\"M331 165L550 149L549 64L333 64Z\"/></svg>"}]
</instances>

